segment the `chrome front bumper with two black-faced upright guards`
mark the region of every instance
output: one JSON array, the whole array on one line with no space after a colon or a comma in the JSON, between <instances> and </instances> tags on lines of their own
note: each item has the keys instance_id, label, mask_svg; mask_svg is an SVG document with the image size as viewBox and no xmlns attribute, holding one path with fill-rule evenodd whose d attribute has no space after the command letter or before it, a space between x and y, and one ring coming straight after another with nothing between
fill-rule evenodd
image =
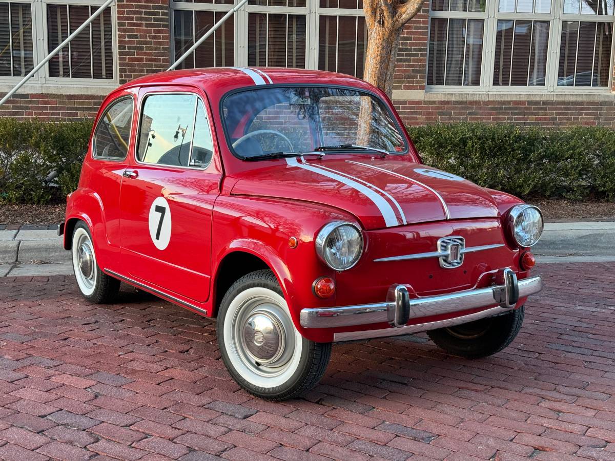
<instances>
[{"instance_id":1,"label":"chrome front bumper with two black-faced upright guards","mask_svg":"<svg viewBox=\"0 0 615 461\"><path fill-rule=\"evenodd\" d=\"M496 305L500 305L502 309L512 309L518 299L538 293L542 289L541 277L517 281L517 275L508 268L500 269L496 280L501 281L501 285L412 299L408 296L408 285L395 284L389 288L384 302L302 309L300 323L303 328L336 328L387 321L391 325L404 326L416 318L446 315L468 309Z\"/></svg>"}]
</instances>

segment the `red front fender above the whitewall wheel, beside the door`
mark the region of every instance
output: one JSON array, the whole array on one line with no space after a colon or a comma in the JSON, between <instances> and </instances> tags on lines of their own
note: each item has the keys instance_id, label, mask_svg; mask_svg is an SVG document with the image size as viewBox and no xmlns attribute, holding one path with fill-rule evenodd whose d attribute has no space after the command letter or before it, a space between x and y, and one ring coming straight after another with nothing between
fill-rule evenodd
<instances>
[{"instance_id":1,"label":"red front fender above the whitewall wheel, beside the door","mask_svg":"<svg viewBox=\"0 0 615 461\"><path fill-rule=\"evenodd\" d=\"M213 216L214 273L218 274L224 256L234 251L245 251L260 258L276 275L300 333L313 341L330 341L314 329L301 327L299 315L305 307L327 307L335 303L335 295L320 299L312 291L317 278L336 276L317 257L314 239L331 221L355 223L352 215L306 202L231 195L218 197ZM296 248L288 244L290 237L297 238Z\"/></svg>"}]
</instances>

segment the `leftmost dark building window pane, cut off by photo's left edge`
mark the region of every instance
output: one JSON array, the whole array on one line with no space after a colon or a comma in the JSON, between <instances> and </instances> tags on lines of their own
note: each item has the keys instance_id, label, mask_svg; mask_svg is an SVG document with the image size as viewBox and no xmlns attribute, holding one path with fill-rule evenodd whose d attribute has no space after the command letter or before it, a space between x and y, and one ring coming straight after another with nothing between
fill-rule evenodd
<instances>
[{"instance_id":1,"label":"leftmost dark building window pane, cut off by photo's left edge","mask_svg":"<svg viewBox=\"0 0 615 461\"><path fill-rule=\"evenodd\" d=\"M0 76L23 77L34 68L32 6L0 1Z\"/></svg>"}]
</instances>

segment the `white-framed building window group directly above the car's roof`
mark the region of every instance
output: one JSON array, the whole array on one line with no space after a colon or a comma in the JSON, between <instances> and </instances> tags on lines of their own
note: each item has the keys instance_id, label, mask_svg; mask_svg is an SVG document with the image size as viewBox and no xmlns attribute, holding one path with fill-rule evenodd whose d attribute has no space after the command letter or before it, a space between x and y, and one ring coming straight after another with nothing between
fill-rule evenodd
<instances>
[{"instance_id":1,"label":"white-framed building window group directly above the car's roof","mask_svg":"<svg viewBox=\"0 0 615 461\"><path fill-rule=\"evenodd\" d=\"M231 0L172 1L175 58L232 4ZM362 0L250 0L179 67L292 67L362 77L367 48L362 8ZM199 22L198 16L204 14L211 20Z\"/></svg>"}]
</instances>

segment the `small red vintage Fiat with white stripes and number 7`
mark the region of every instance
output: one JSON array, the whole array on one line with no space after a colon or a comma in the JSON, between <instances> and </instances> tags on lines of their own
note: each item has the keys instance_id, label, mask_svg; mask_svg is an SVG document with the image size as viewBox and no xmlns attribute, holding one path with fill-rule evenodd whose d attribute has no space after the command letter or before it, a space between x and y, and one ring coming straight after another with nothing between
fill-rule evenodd
<instances>
[{"instance_id":1,"label":"small red vintage Fiat with white stripes and number 7","mask_svg":"<svg viewBox=\"0 0 615 461\"><path fill-rule=\"evenodd\" d=\"M422 164L372 85L303 69L122 85L60 233L86 299L122 281L217 317L232 377L269 400L317 383L334 341L496 353L541 289L538 208Z\"/></svg>"}]
</instances>

